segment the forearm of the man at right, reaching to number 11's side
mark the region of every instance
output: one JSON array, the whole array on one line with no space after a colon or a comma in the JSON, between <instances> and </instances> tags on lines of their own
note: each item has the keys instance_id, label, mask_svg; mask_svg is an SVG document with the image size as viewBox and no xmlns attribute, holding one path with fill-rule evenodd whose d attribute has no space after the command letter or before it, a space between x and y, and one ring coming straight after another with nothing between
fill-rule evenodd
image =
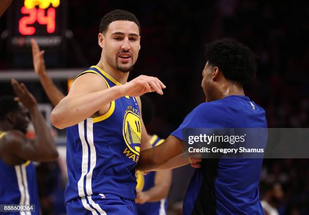
<instances>
[{"instance_id":1,"label":"forearm of the man at right, reaching to number 11's side","mask_svg":"<svg viewBox=\"0 0 309 215\"><path fill-rule=\"evenodd\" d=\"M170 135L159 146L146 149L140 153L137 170L151 170L165 164L173 157L182 153L182 142Z\"/></svg>"}]
</instances>

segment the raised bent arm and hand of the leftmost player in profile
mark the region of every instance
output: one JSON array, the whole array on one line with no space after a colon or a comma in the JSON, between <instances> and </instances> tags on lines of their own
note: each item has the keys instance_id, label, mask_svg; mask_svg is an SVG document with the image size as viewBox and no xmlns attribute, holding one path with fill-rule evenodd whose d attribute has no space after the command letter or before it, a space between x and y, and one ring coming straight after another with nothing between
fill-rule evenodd
<instances>
[{"instance_id":1,"label":"raised bent arm and hand of the leftmost player in profile","mask_svg":"<svg viewBox=\"0 0 309 215\"><path fill-rule=\"evenodd\" d=\"M28 109L32 124L35 130L34 143L27 140L25 135L18 131L9 133L11 138L13 151L17 156L23 159L31 159L33 161L51 161L58 157L58 151L50 130L37 108L37 102L33 95L28 91L23 83L19 83L15 79L11 80L13 90L25 108Z\"/></svg>"}]
</instances>

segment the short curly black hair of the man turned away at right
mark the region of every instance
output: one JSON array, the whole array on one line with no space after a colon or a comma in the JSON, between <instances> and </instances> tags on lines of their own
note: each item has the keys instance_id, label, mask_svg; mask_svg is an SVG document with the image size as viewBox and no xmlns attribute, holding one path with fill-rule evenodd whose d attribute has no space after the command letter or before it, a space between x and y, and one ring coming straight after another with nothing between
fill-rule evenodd
<instances>
[{"instance_id":1,"label":"short curly black hair of the man turned away at right","mask_svg":"<svg viewBox=\"0 0 309 215\"><path fill-rule=\"evenodd\" d=\"M241 84L256 75L256 56L236 39L224 38L206 44L205 60L217 66L225 78Z\"/></svg>"}]
</instances>

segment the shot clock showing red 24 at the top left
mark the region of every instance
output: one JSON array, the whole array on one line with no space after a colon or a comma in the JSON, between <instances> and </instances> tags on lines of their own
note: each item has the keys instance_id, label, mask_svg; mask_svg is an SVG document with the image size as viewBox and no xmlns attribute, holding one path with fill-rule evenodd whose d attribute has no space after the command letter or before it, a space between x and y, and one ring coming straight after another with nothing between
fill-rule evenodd
<instances>
[{"instance_id":1,"label":"shot clock showing red 24 at the top left","mask_svg":"<svg viewBox=\"0 0 309 215\"><path fill-rule=\"evenodd\" d=\"M30 39L45 50L46 64L62 66L65 60L67 0L15 0L8 11L9 50L13 64L29 65ZM30 56L30 57L29 57ZM31 62L30 58L30 63ZM29 65L30 66L30 65Z\"/></svg>"}]
</instances>

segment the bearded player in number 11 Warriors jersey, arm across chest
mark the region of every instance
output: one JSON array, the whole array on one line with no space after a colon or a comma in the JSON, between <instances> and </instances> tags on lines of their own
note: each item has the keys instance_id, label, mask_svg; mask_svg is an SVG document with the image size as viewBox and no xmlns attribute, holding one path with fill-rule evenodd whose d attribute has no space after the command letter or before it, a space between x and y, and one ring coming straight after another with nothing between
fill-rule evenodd
<instances>
[{"instance_id":1,"label":"bearded player in number 11 Warriors jersey, arm across chest","mask_svg":"<svg viewBox=\"0 0 309 215\"><path fill-rule=\"evenodd\" d=\"M139 96L162 95L156 77L127 82L140 49L140 24L127 11L106 14L100 23L99 62L78 75L50 119L67 127L68 214L136 214L135 165L149 148Z\"/></svg>"}]
</instances>

